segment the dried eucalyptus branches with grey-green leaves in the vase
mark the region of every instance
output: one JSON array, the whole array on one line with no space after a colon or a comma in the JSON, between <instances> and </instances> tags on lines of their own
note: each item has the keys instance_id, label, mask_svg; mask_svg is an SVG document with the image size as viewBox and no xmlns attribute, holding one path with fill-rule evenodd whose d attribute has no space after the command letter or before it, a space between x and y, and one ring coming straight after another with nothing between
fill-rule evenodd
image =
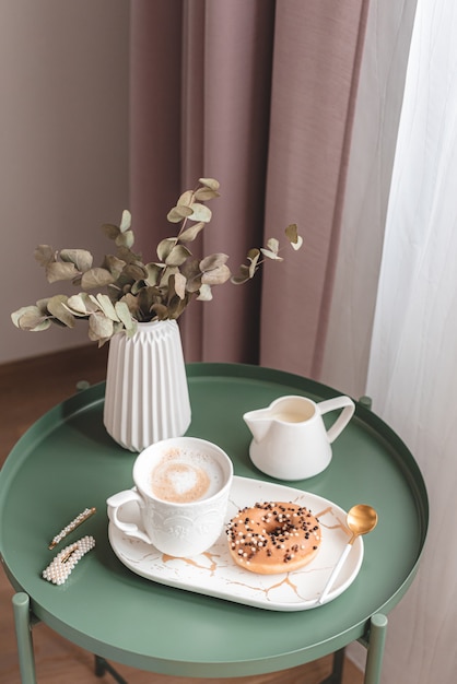
<instances>
[{"instance_id":1,"label":"dried eucalyptus branches with grey-green leaves in the vase","mask_svg":"<svg viewBox=\"0 0 457 684\"><path fill-rule=\"evenodd\" d=\"M99 267L93 266L93 257L85 249L56 251L49 245L39 245L35 259L45 269L47 281L69 281L80 292L71 296L58 294L21 307L11 314L13 323L21 330L42 331L52 323L74 328L83 319L89 321L89 338L102 345L117 332L134 334L138 322L179 318L192 299L212 299L212 287L228 280L234 284L247 282L267 259L282 261L277 238L268 239L265 247L250 249L247 263L239 266L237 275L232 275L225 253L200 260L192 256L188 245L210 223L212 212L204 202L220 197L219 187L214 178L200 178L194 190L179 197L167 214L169 223L180 224L179 229L174 237L159 243L156 260L148 263L132 250L134 234L127 210L119 226L102 226L115 243L116 253L105 255ZM295 224L285 228L285 237L293 249L302 247ZM93 291L98 292L92 294Z\"/></svg>"}]
</instances>

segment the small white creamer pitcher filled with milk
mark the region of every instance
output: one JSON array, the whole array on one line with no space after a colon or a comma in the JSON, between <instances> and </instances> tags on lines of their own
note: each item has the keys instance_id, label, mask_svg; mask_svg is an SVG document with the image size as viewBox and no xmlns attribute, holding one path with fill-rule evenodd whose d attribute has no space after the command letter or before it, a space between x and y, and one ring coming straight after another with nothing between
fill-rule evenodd
<instances>
[{"instance_id":1,"label":"small white creamer pitcher filled with milk","mask_svg":"<svg viewBox=\"0 0 457 684\"><path fill-rule=\"evenodd\" d=\"M329 429L323 415L342 409ZM267 475L278 480L304 480L325 470L331 461L331 444L348 425L355 410L349 397L315 403L306 397L276 399L267 409L249 411L243 418L253 441L249 456Z\"/></svg>"}]
</instances>

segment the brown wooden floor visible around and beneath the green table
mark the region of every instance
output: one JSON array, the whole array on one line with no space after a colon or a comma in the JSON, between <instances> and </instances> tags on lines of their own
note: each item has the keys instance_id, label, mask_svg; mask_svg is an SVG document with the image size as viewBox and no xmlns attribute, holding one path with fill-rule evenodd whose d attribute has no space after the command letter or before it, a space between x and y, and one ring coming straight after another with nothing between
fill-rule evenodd
<instances>
[{"instance_id":1,"label":"brown wooden floor visible around and beneath the green table","mask_svg":"<svg viewBox=\"0 0 457 684\"><path fill-rule=\"evenodd\" d=\"M105 378L106 347L96 345L0 366L0 465L19 437L47 410L77 391L77 382L91 385ZM0 570L0 683L21 684L11 608L13 590ZM94 674L93 657L55 634L46 625L33 629L38 684L110 683L107 673ZM332 658L324 658L285 672L237 679L196 680L141 672L116 665L129 684L318 684L331 672ZM115 664L115 663L113 663ZM362 673L344 662L343 684L362 684Z\"/></svg>"}]
</instances>

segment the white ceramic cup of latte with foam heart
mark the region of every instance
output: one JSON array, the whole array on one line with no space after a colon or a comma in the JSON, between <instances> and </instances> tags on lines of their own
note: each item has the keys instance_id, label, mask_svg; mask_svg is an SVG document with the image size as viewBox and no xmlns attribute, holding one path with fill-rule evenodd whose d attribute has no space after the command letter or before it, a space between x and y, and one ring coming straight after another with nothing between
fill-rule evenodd
<instances>
[{"instance_id":1,"label":"white ceramic cup of latte with foam heart","mask_svg":"<svg viewBox=\"0 0 457 684\"><path fill-rule=\"evenodd\" d=\"M197 437L164 439L138 456L136 487L107 499L108 517L125 534L164 554L196 556L223 530L232 480L232 461L216 445ZM119 516L131 502L142 529Z\"/></svg>"}]
</instances>

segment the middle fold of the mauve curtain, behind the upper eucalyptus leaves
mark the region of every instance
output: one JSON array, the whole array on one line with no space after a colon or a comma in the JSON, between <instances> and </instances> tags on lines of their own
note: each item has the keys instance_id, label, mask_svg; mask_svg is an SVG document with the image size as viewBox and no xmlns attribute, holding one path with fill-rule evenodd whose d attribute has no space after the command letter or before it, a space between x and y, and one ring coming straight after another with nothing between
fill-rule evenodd
<instances>
[{"instance_id":1,"label":"middle fold of the mauve curtain, behind the upper eucalyptus leaves","mask_svg":"<svg viewBox=\"0 0 457 684\"><path fill-rule=\"evenodd\" d=\"M233 271L262 240L273 10L271 0L185 2L183 184L221 182L198 249L227 253ZM257 363L259 286L226 284L194 303L180 323L186 358Z\"/></svg>"}]
</instances>

